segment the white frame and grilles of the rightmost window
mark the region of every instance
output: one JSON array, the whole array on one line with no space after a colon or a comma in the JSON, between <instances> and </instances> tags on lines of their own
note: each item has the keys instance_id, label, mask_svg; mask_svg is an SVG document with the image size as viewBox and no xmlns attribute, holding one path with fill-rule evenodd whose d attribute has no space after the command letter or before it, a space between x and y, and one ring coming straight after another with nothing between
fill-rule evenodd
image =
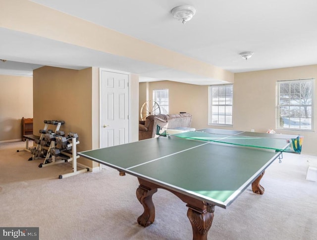
<instances>
[{"instance_id":1,"label":"white frame and grilles of the rightmost window","mask_svg":"<svg viewBox=\"0 0 317 240\"><path fill-rule=\"evenodd\" d=\"M296 83L302 83L302 82L311 82L312 84L312 97L311 97L311 103L307 103L307 102L303 102L300 101L299 103L296 102L289 102L287 103L281 103L280 99L281 99L281 89L280 89L280 85L282 83L290 83L290 84L296 84ZM289 93L289 95L291 95L291 91ZM302 94L300 94L302 96ZM314 96L315 96L315 79L314 78L310 78L310 79L297 79L297 80L283 80L283 81L277 81L276 82L276 129L281 129L281 130L291 130L291 131L314 131ZM280 115L280 109L281 107L311 107L311 129L307 129L305 126L307 126L305 121L302 121L302 119L305 120L305 117L292 117L291 116L291 111L289 113L288 116L281 116ZM284 127L285 122L288 123L289 127ZM292 125L292 122L294 123ZM283 126L281 126L281 124L283 124ZM291 126L297 126L297 124L299 124L299 127L291 127Z\"/></svg>"}]
</instances>

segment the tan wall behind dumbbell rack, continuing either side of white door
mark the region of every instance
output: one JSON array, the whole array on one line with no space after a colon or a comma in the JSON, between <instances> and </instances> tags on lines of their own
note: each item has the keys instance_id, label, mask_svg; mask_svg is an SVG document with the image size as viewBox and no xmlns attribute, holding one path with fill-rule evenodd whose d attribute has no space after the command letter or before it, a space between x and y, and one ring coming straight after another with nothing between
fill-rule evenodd
<instances>
[{"instance_id":1,"label":"tan wall behind dumbbell rack, continuing either side of white door","mask_svg":"<svg viewBox=\"0 0 317 240\"><path fill-rule=\"evenodd\" d=\"M79 135L78 151L100 147L100 80L98 68L71 70L42 67L34 70L34 129L44 128L43 120L64 120L60 130ZM138 141L139 76L130 75L131 141ZM50 127L54 127L50 125ZM54 129L53 129L54 130ZM85 158L89 167L98 163Z\"/></svg>"}]
</instances>

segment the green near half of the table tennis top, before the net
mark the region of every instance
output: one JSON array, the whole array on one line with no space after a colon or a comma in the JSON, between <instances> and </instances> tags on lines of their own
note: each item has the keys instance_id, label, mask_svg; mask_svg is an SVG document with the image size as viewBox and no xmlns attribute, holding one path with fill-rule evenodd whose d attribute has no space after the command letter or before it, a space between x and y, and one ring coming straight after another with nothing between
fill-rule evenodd
<instances>
[{"instance_id":1,"label":"green near half of the table tennis top, before the net","mask_svg":"<svg viewBox=\"0 0 317 240\"><path fill-rule=\"evenodd\" d=\"M275 144L277 148L288 145L285 139L279 139ZM280 152L169 136L78 154L164 188L226 208Z\"/></svg>"}]
</instances>

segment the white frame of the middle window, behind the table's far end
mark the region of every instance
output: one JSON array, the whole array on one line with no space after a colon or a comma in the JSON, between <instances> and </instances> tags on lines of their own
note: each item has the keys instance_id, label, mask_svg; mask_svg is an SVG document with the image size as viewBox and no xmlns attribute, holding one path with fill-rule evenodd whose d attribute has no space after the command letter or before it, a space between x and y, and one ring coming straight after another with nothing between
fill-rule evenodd
<instances>
[{"instance_id":1,"label":"white frame of the middle window, behind the table's far end","mask_svg":"<svg viewBox=\"0 0 317 240\"><path fill-rule=\"evenodd\" d=\"M218 104L214 104L212 102L212 99L213 99L213 96L212 96L212 89L214 88L220 88L220 87L231 87L232 88L232 94L230 95L231 96L231 101L227 101L226 97L225 97L225 100L224 100L224 103L220 103L219 102L219 99L218 99ZM226 92L226 91L225 91ZM211 85L208 87L208 96L209 96L209 104L208 104L208 125L217 125L217 126L230 126L232 127L233 126L233 84L222 84L222 85ZM212 108L217 108L216 112L218 114L213 114L215 112L212 111L213 109ZM219 107L221 108L224 108L224 113L223 114L219 114ZM231 108L231 111L227 111L226 109L227 108ZM218 116L217 117L217 122L214 122L212 120L212 116ZM219 122L219 116L222 116L224 117L224 122ZM231 122L230 121L227 121L227 116L230 116L231 117Z\"/></svg>"}]
</instances>

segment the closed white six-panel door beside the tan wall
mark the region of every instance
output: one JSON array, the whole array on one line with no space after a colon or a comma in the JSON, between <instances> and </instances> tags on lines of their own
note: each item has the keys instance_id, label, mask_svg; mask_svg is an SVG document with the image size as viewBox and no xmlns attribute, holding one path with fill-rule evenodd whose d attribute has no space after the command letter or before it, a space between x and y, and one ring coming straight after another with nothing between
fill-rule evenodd
<instances>
[{"instance_id":1,"label":"closed white six-panel door beside the tan wall","mask_svg":"<svg viewBox=\"0 0 317 240\"><path fill-rule=\"evenodd\" d=\"M101 147L129 142L129 75L101 71Z\"/></svg>"}]
</instances>

